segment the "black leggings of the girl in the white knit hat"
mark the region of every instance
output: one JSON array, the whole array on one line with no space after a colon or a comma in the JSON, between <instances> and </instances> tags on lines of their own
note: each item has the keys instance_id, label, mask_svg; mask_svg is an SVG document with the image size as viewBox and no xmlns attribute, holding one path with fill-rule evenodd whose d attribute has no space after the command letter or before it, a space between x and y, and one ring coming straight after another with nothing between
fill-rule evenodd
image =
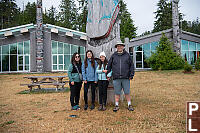
<instances>
[{"instance_id":1,"label":"black leggings of the girl in the white knit hat","mask_svg":"<svg viewBox=\"0 0 200 133\"><path fill-rule=\"evenodd\" d=\"M107 102L107 88L108 88L108 80L99 80L98 88L99 88L99 104L106 105Z\"/></svg>"}]
</instances>

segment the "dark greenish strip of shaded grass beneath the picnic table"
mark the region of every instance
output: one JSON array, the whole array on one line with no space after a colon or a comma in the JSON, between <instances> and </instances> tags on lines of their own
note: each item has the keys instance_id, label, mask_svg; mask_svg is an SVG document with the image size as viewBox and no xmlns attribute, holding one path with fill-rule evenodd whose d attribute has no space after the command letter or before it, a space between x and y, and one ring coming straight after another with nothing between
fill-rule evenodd
<instances>
[{"instance_id":1,"label":"dark greenish strip of shaded grass beneath the picnic table","mask_svg":"<svg viewBox=\"0 0 200 133\"><path fill-rule=\"evenodd\" d=\"M66 93L69 92L69 88L65 87L64 89L58 89L58 91L56 91L55 88L43 88L43 89L34 89L32 91L30 90L23 90L17 94L48 94L48 93Z\"/></svg>"}]
</instances>

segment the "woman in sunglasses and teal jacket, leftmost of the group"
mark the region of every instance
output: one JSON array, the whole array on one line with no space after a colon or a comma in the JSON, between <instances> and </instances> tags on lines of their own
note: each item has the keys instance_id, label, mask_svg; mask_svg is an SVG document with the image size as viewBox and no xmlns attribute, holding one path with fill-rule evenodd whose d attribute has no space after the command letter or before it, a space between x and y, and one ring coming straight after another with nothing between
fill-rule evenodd
<instances>
[{"instance_id":1,"label":"woman in sunglasses and teal jacket, leftmost of the group","mask_svg":"<svg viewBox=\"0 0 200 133\"><path fill-rule=\"evenodd\" d=\"M69 85L70 85L70 102L72 106L72 110L80 109L79 99L80 99L80 90L82 87L82 80L80 77L81 74L81 57L76 52L73 54L71 58L71 64L68 69L69 76Z\"/></svg>"}]
</instances>

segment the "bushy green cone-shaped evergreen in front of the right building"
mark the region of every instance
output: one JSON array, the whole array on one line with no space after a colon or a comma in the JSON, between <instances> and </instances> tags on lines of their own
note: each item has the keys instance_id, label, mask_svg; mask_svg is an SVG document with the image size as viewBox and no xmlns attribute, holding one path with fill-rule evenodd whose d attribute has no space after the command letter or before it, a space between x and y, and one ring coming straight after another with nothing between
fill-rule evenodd
<instances>
[{"instance_id":1,"label":"bushy green cone-shaped evergreen in front of the right building","mask_svg":"<svg viewBox=\"0 0 200 133\"><path fill-rule=\"evenodd\" d=\"M183 69L184 60L172 50L172 43L163 33L160 38L156 53L146 60L153 70L177 70Z\"/></svg>"}]
</instances>

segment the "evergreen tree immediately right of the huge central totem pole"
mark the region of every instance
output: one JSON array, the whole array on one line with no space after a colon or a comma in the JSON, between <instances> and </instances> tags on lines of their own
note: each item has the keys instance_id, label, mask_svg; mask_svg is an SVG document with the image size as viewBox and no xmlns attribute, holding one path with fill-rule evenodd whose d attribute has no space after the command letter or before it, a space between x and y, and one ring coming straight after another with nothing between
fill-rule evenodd
<instances>
[{"instance_id":1,"label":"evergreen tree immediately right of the huge central totem pole","mask_svg":"<svg viewBox=\"0 0 200 133\"><path fill-rule=\"evenodd\" d=\"M128 12L126 3L123 0L120 0L120 11L119 18L121 19L120 25L120 38L124 42L124 39L128 37L129 39L136 37L137 28L133 24L133 20L131 19L131 14Z\"/></svg>"}]
</instances>

